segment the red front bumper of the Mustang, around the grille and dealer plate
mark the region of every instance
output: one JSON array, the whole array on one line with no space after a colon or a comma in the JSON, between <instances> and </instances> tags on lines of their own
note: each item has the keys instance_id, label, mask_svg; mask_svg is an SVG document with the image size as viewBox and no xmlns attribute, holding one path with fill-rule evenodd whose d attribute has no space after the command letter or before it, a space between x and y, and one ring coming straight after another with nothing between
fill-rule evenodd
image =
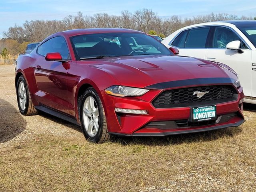
<instances>
[{"instance_id":1,"label":"red front bumper of the Mustang, around the grille and dealer plate","mask_svg":"<svg viewBox=\"0 0 256 192\"><path fill-rule=\"evenodd\" d=\"M238 89L237 100L216 103L216 122L198 125L188 121L191 115L190 107L154 108L151 102L161 91L150 90L140 97L125 98L110 96L102 91L108 132L122 136L166 136L234 127L244 122L242 104L239 104L244 97L242 87ZM121 114L116 112L115 108L147 110L148 114ZM187 122L187 125L179 126L180 122Z\"/></svg>"}]
</instances>

